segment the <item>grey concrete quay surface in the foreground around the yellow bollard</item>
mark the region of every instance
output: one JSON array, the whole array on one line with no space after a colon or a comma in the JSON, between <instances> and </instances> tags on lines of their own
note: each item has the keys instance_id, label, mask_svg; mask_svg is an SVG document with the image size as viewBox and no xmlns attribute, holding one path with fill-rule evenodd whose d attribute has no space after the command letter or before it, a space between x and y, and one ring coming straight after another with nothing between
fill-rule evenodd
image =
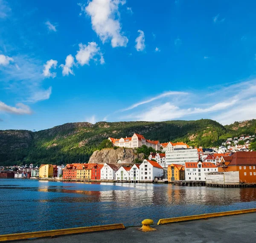
<instances>
[{"instance_id":1,"label":"grey concrete quay surface in the foreground around the yellow bollard","mask_svg":"<svg viewBox=\"0 0 256 243\"><path fill-rule=\"evenodd\" d=\"M155 222L157 223L157 222ZM139 226L123 230L72 234L26 240L29 243L252 243L256 239L256 213L153 225L157 231L141 232ZM14 241L24 243L24 240Z\"/></svg>"}]
</instances>

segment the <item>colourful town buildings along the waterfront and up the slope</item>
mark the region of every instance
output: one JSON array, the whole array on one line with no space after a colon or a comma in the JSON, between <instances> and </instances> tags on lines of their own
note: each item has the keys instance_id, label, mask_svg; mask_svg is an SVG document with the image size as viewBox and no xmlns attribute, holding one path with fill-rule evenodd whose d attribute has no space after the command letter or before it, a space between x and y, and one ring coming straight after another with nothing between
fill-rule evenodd
<instances>
[{"instance_id":1,"label":"colourful town buildings along the waterfront and up the slope","mask_svg":"<svg viewBox=\"0 0 256 243\"><path fill-rule=\"evenodd\" d=\"M160 143L141 134L105 141L108 152L122 149L147 150L144 159L117 158L105 163L66 165L31 164L1 167L0 178L34 178L39 180L102 181L130 183L174 183L185 186L255 186L256 152L250 151L255 135L228 138L222 146L191 147L183 142ZM238 145L239 144L243 145ZM112 147L112 148L111 148Z\"/></svg>"}]
</instances>

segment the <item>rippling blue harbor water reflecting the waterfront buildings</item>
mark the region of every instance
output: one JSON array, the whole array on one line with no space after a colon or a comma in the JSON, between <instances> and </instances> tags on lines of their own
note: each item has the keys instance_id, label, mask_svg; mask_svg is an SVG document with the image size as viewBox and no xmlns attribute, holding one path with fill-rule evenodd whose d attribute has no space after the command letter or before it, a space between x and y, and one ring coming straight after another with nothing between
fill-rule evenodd
<instances>
[{"instance_id":1,"label":"rippling blue harbor water reflecting the waterfront buildings","mask_svg":"<svg viewBox=\"0 0 256 243\"><path fill-rule=\"evenodd\" d=\"M256 188L0 179L0 234L256 208Z\"/></svg>"}]
</instances>

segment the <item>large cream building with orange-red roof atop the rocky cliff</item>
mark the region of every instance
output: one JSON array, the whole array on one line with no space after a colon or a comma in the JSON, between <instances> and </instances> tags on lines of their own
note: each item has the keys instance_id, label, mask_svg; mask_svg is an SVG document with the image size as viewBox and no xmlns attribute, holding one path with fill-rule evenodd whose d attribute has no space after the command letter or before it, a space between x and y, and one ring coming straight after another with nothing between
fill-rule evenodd
<instances>
[{"instance_id":1,"label":"large cream building with orange-red roof atop the rocky cliff","mask_svg":"<svg viewBox=\"0 0 256 243\"><path fill-rule=\"evenodd\" d=\"M113 144L113 146L124 147L124 148L140 148L141 146L145 145L147 147L152 147L155 150L160 150L160 143L159 141L148 140L141 134L134 133L132 137L121 137L121 138L113 138L109 137Z\"/></svg>"}]
</instances>

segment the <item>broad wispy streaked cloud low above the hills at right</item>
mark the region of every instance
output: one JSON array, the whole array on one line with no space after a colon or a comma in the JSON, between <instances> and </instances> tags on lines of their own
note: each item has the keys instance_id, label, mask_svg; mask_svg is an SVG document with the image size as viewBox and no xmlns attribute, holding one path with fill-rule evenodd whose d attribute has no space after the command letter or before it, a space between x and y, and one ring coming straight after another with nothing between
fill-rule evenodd
<instances>
[{"instance_id":1,"label":"broad wispy streaked cloud low above the hills at right","mask_svg":"<svg viewBox=\"0 0 256 243\"><path fill-rule=\"evenodd\" d=\"M238 86L239 91L234 94L234 90ZM184 103L178 100L160 104L154 103L154 106L146 106L140 111L127 114L120 119L163 121L193 117L195 119L211 118L222 124L228 124L236 120L247 120L256 117L256 110L253 109L253 107L256 107L256 79L230 85L226 89L218 90L216 95L218 95L219 102L215 102L215 98L210 100L207 92L204 96L189 94L187 97L189 97L190 102ZM220 100L221 97L224 98ZM122 111L133 109L147 101L153 101L153 99L136 103Z\"/></svg>"}]
</instances>

